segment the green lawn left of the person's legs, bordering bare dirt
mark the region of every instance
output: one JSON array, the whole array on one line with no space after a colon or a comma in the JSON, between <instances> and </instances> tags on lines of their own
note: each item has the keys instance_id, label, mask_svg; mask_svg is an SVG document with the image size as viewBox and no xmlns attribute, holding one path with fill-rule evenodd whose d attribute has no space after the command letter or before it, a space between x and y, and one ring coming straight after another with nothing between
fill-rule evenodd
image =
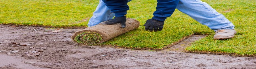
<instances>
[{"instance_id":1,"label":"green lawn left of the person's legs, bordering bare dirt","mask_svg":"<svg viewBox=\"0 0 256 69\"><path fill-rule=\"evenodd\" d=\"M0 0L0 23L54 27L86 26L97 7L92 0Z\"/></svg>"}]
</instances>

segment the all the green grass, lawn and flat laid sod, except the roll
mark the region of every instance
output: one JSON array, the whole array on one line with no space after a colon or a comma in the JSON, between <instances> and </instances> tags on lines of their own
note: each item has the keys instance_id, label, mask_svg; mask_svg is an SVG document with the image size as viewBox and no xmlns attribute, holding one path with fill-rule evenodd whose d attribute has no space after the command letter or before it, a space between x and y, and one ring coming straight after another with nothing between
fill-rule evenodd
<instances>
[{"instance_id":1,"label":"all the green grass, lawn and flat laid sod, except the roll","mask_svg":"<svg viewBox=\"0 0 256 69\"><path fill-rule=\"evenodd\" d=\"M32 26L86 26L99 0L0 0L0 24ZM209 35L187 47L188 51L224 52L256 55L256 0L203 0L233 22L238 32L232 39L213 40L210 30L188 15L176 10L160 32L144 31L142 26L153 17L156 0L129 2L127 17L140 21L140 27L120 35L106 45L130 48L162 49L191 34ZM86 21L82 21L85 19Z\"/></svg>"}]
</instances>

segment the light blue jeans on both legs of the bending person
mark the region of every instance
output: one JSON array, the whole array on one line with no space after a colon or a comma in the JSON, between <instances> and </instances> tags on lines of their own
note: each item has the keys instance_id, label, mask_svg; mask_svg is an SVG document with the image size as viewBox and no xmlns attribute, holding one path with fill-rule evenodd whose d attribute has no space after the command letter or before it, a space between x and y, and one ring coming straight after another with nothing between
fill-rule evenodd
<instances>
[{"instance_id":1,"label":"light blue jeans on both legs of the bending person","mask_svg":"<svg viewBox=\"0 0 256 69\"><path fill-rule=\"evenodd\" d=\"M131 0L128 0L128 2L130 1ZM215 9L210 7L207 3L202 2L201 0L180 0L176 9L189 15L196 21L208 26L214 31L235 29L234 25L228 21L224 15L218 13ZM91 17L87 25L89 27L95 26L100 22L108 21L113 17L114 13L111 13L110 9L108 9L104 2L100 0L97 9L93 13L93 17Z\"/></svg>"}]
</instances>

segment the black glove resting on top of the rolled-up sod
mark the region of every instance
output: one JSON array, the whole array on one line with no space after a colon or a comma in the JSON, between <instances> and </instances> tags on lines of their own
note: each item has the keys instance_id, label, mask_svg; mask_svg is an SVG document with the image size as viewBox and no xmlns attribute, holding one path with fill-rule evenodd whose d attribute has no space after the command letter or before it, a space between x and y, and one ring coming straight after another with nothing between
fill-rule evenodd
<instances>
[{"instance_id":1,"label":"black glove resting on top of the rolled-up sod","mask_svg":"<svg viewBox=\"0 0 256 69\"><path fill-rule=\"evenodd\" d=\"M101 22L99 24L107 24L107 25L112 25L112 24L117 24L120 23L122 28L125 28L125 22L126 22L126 17L115 17L114 19L111 19L109 21Z\"/></svg>"}]
</instances>

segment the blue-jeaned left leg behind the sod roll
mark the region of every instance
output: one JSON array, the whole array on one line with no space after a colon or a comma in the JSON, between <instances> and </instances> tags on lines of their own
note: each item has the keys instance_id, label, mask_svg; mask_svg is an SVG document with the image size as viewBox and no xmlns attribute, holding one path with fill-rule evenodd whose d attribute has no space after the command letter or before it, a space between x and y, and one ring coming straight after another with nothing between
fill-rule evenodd
<instances>
[{"instance_id":1,"label":"blue-jeaned left leg behind the sod roll","mask_svg":"<svg viewBox=\"0 0 256 69\"><path fill-rule=\"evenodd\" d=\"M128 0L130 2L131 0ZM111 13L110 9L106 7L105 3L102 0L99 1L99 5L96 10L93 12L93 17L89 20L87 26L95 26L101 22L109 21L115 16L114 13Z\"/></svg>"}]
</instances>

